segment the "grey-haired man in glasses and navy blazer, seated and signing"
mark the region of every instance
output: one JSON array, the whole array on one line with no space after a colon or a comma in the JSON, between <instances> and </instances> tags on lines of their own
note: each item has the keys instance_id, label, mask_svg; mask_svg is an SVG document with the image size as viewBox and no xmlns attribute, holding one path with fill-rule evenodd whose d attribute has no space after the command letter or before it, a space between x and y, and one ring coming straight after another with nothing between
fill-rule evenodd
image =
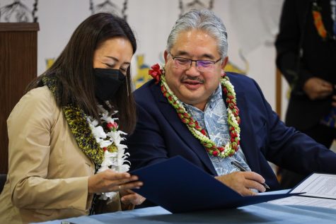
<instances>
[{"instance_id":1,"label":"grey-haired man in glasses and navy blazer, seated and signing","mask_svg":"<svg viewBox=\"0 0 336 224\"><path fill-rule=\"evenodd\" d=\"M212 11L190 11L175 23L164 71L153 66L156 80L134 92L132 169L181 155L241 195L265 191L265 182L279 189L267 160L305 174L335 173L336 154L286 127L255 81L222 73L227 48L226 28Z\"/></svg>"}]
</instances>

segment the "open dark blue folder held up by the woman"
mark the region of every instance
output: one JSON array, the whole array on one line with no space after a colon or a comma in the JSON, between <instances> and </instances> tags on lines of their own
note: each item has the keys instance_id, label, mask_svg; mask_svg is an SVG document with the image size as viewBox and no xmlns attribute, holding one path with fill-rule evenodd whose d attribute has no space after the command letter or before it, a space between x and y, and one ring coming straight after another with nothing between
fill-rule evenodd
<instances>
[{"instance_id":1,"label":"open dark blue folder held up by the woman","mask_svg":"<svg viewBox=\"0 0 336 224\"><path fill-rule=\"evenodd\" d=\"M241 196L181 156L130 172L144 182L135 192L171 213L237 208L297 194Z\"/></svg>"}]
</instances>

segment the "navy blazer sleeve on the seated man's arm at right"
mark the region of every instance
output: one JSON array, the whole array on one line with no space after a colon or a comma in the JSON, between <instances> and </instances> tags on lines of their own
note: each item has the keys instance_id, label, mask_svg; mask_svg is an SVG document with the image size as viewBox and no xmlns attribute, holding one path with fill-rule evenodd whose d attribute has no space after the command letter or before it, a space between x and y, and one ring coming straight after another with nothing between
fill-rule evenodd
<instances>
[{"instance_id":1,"label":"navy blazer sleeve on the seated man's arm at right","mask_svg":"<svg viewBox=\"0 0 336 224\"><path fill-rule=\"evenodd\" d=\"M253 112L253 114L256 116L265 114L267 121L267 131L262 134L265 142L262 153L265 158L280 167L304 175L311 172L336 173L336 153L306 134L286 126L272 110L257 83L255 87L260 93L260 102L263 104L258 108L263 108L263 111ZM255 137L258 138L258 136Z\"/></svg>"}]
</instances>

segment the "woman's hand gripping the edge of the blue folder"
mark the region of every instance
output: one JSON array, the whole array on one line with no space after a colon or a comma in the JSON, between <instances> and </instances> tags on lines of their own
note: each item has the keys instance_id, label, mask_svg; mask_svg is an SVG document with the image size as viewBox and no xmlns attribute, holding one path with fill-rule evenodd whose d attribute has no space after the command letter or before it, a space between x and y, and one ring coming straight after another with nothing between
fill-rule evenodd
<instances>
[{"instance_id":1,"label":"woman's hand gripping the edge of the blue folder","mask_svg":"<svg viewBox=\"0 0 336 224\"><path fill-rule=\"evenodd\" d=\"M131 176L127 172L105 170L88 177L88 193L94 194L139 188L143 183L137 180L137 176Z\"/></svg>"}]
</instances>

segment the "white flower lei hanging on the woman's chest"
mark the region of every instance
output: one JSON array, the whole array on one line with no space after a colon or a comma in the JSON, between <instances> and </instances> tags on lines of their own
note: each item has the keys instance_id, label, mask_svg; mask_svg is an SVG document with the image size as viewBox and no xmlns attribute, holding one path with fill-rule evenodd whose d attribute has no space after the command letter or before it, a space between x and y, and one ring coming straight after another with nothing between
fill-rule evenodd
<instances>
[{"instance_id":1,"label":"white flower lei hanging on the woman's chest","mask_svg":"<svg viewBox=\"0 0 336 224\"><path fill-rule=\"evenodd\" d=\"M108 116L108 111L103 108L102 105L98 105L98 109L100 110L100 120L102 122L116 124L115 120L117 118L111 118ZM116 114L115 111L113 114ZM93 119L92 117L87 117L87 122L90 126L92 134L95 138L95 141L99 144L100 148L105 148L112 143L117 147L117 152L110 153L108 150L104 152L104 159L103 162L100 164L100 167L97 172L103 172L105 170L113 170L114 172L127 172L129 170L129 160L126 158L129 157L129 153L124 153L126 145L121 144L120 141L123 141L125 138L122 138L121 135L127 135L124 131L108 131L105 133L103 126L98 126L98 121ZM127 164L128 163L128 164ZM100 199L107 200L112 199L117 192L105 192L101 193Z\"/></svg>"}]
</instances>

